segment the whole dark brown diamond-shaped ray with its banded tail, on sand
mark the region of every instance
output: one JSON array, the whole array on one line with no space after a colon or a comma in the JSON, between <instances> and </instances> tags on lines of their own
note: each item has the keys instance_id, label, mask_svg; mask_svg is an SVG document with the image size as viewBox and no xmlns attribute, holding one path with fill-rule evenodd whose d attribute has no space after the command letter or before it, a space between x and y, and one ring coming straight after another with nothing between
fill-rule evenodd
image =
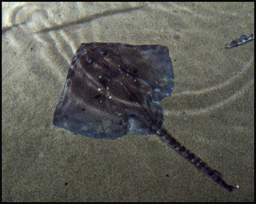
<instances>
[{"instance_id":1,"label":"whole dark brown diamond-shaped ray with its banded tail, on sand","mask_svg":"<svg viewBox=\"0 0 256 204\"><path fill-rule=\"evenodd\" d=\"M174 71L162 45L82 43L72 59L53 125L93 138L117 138L128 131L158 134L181 156L230 192L211 169L163 128L159 101L171 96Z\"/></svg>"}]
</instances>

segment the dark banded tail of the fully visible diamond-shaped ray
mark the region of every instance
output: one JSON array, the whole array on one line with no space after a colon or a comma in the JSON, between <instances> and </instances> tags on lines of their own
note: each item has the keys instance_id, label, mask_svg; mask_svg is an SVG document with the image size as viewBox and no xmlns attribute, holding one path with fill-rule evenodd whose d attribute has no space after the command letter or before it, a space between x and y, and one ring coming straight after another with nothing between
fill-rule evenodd
<instances>
[{"instance_id":1,"label":"dark banded tail of the fully visible diamond-shaped ray","mask_svg":"<svg viewBox=\"0 0 256 204\"><path fill-rule=\"evenodd\" d=\"M172 135L168 134L166 130L160 129L159 131L156 131L156 133L158 133L160 137L162 137L166 142L168 142L172 147L174 147L175 150L179 152L179 154L181 154L185 159L188 159L189 162L195 165L196 168L199 168L202 172L204 172L206 175L208 175L222 187L227 189L229 192L232 192L234 186L227 184L221 178L220 172L211 169L207 164L204 163L202 159L200 159L187 148L185 148L183 145L181 145L181 143L177 142L176 139L172 137Z\"/></svg>"}]
</instances>

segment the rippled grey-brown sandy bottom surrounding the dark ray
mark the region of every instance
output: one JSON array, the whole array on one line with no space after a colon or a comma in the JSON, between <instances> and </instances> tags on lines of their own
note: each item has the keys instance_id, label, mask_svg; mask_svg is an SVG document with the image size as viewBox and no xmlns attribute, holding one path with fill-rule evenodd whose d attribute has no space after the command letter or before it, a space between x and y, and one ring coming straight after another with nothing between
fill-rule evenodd
<instances>
[{"instance_id":1,"label":"rippled grey-brown sandy bottom surrounding the dark ray","mask_svg":"<svg viewBox=\"0 0 256 204\"><path fill-rule=\"evenodd\" d=\"M251 3L2 3L3 202L254 202ZM81 42L167 46L164 127L232 193L157 135L74 135L52 125ZM168 177L167 177L168 175Z\"/></svg>"}]
</instances>

